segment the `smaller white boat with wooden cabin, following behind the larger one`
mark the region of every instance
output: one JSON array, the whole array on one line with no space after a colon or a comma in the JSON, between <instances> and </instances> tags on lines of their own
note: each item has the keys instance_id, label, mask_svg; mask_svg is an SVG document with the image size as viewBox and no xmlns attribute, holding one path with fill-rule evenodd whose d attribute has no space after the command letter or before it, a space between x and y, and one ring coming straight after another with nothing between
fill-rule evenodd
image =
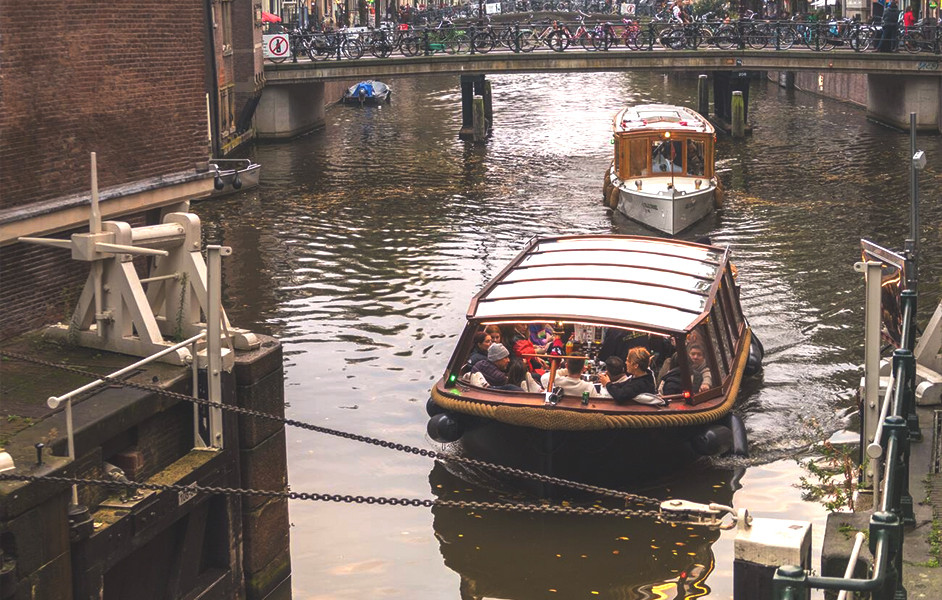
<instances>
[{"instance_id":1,"label":"smaller white boat with wooden cabin, following behind the larger one","mask_svg":"<svg viewBox=\"0 0 942 600\"><path fill-rule=\"evenodd\" d=\"M612 210L675 235L722 203L713 125L683 106L646 104L612 123L615 158L602 193Z\"/></svg>"}]
</instances>

